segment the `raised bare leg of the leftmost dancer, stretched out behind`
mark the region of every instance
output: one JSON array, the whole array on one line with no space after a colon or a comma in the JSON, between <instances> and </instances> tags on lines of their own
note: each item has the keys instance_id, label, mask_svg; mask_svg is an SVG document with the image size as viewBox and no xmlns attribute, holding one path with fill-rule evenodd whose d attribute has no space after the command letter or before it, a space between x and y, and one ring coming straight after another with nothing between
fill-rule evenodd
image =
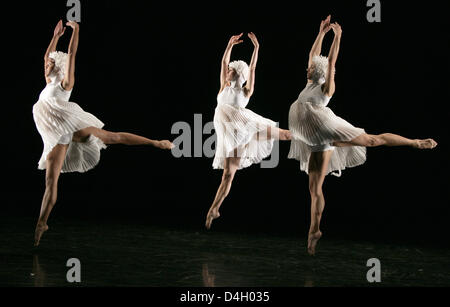
<instances>
[{"instance_id":1,"label":"raised bare leg of the leftmost dancer, stretched out behind","mask_svg":"<svg viewBox=\"0 0 450 307\"><path fill-rule=\"evenodd\" d=\"M132 133L111 132L95 127L88 127L75 132L73 135L73 141L85 142L91 134L101 139L103 143L107 145L109 144L152 145L161 149L172 149L174 147L174 145L167 140L155 141Z\"/></svg>"}]
</instances>

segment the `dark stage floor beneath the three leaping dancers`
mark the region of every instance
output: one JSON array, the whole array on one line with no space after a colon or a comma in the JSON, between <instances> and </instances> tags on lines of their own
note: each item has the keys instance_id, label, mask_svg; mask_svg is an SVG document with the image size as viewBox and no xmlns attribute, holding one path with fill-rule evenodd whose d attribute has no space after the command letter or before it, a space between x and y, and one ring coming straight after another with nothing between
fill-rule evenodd
<instances>
[{"instance_id":1,"label":"dark stage floor beneath the three leaping dancers","mask_svg":"<svg viewBox=\"0 0 450 307\"><path fill-rule=\"evenodd\" d=\"M450 286L450 250L327 239L170 229L58 218L38 249L33 219L2 220L0 286ZM66 262L81 262L81 283ZM366 279L381 261L381 283Z\"/></svg>"}]
</instances>

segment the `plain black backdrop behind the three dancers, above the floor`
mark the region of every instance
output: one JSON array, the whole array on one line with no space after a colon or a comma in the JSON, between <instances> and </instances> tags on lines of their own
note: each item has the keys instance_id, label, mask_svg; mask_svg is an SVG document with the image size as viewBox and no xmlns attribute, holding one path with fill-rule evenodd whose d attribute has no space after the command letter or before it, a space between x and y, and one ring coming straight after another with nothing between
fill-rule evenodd
<instances>
[{"instance_id":1,"label":"plain black backdrop behind the three dancers, above the floor","mask_svg":"<svg viewBox=\"0 0 450 307\"><path fill-rule=\"evenodd\" d=\"M210 2L82 1L76 84L71 101L111 131L174 139L171 127L194 114L212 121L220 59L231 35L260 41L255 94L248 108L287 128L303 89L308 52L320 20L343 28L336 94L329 107L368 133L432 137L433 151L368 149L367 162L327 176L322 231L327 236L448 244L448 21L444 2L382 1L382 22L369 23L366 1ZM39 214L45 172L32 106L45 87L42 57L66 1L3 8L3 201L5 216ZM324 40L327 55L332 32ZM71 30L60 40L66 51ZM232 60L249 62L245 37ZM6 73L5 73L6 72ZM208 136L205 136L206 139ZM274 169L239 171L213 231L305 236L308 177L280 144ZM85 174L63 174L54 219L203 229L221 171L212 158L174 158L150 147L110 146Z\"/></svg>"}]
</instances>

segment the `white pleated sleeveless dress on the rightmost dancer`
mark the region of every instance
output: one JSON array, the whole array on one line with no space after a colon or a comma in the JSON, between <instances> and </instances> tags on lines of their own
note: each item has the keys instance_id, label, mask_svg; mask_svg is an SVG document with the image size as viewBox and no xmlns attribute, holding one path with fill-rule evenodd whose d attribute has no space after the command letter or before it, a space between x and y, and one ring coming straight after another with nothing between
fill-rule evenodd
<instances>
[{"instance_id":1,"label":"white pleated sleeveless dress on the rightmost dancer","mask_svg":"<svg viewBox=\"0 0 450 307\"><path fill-rule=\"evenodd\" d=\"M300 170L308 173L311 152L332 150L328 172L341 176L346 167L366 161L362 146L334 147L333 142L350 141L365 133L327 107L331 97L323 94L322 84L308 83L289 110L289 130L292 141L288 158L300 161ZM337 173L336 173L337 171Z\"/></svg>"}]
</instances>

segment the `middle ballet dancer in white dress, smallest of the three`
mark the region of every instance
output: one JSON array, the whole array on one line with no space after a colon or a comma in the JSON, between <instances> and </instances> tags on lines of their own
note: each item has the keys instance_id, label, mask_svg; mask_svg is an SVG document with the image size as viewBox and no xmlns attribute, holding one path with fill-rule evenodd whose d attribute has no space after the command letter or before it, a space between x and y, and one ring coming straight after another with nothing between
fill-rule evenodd
<instances>
[{"instance_id":1,"label":"middle ballet dancer in white dress, smallest of the three","mask_svg":"<svg viewBox=\"0 0 450 307\"><path fill-rule=\"evenodd\" d=\"M269 156L274 140L291 138L288 130L277 128L275 122L246 108L254 91L259 43L255 34L248 34L254 46L250 67L244 61L230 63L231 51L235 45L242 43L241 37L242 33L230 38L222 58L220 91L214 114L217 146L213 168L223 169L223 175L206 217L207 229L220 216L219 208L230 192L236 171Z\"/></svg>"}]
</instances>

